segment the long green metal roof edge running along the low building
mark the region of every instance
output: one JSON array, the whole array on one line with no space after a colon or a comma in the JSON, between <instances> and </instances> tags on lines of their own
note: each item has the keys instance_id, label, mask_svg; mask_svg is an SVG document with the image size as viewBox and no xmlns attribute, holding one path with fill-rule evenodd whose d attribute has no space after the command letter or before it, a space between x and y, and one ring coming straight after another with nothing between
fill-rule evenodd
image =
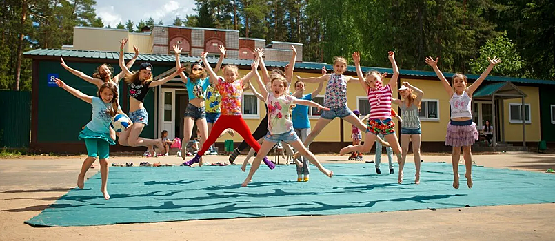
<instances>
[{"instance_id":1,"label":"long green metal roof edge running along the low building","mask_svg":"<svg viewBox=\"0 0 555 241\"><path fill-rule=\"evenodd\" d=\"M125 59L131 59L134 54L125 53ZM27 58L33 58L34 56L55 56L55 57L77 57L77 58L88 58L88 59L119 59L119 52L108 52L108 51L95 51L95 50L56 50L56 49L37 49L24 52L23 56ZM181 61L199 61L198 56L181 56ZM139 54L137 61L150 61L150 62L174 62L175 56L168 54ZM210 63L216 63L218 59L208 58ZM240 66L250 66L252 60L250 59L224 59L223 64L233 64ZM265 61L267 67L285 67L288 62L284 61ZM333 65L325 63L310 63L310 62L299 62L295 63L296 70L320 70L322 66L325 66L327 70L332 70ZM377 70L379 72L392 73L391 68L385 67L361 67L363 72L370 70ZM354 66L347 66L347 72L356 73ZM437 78L436 73L432 71L423 70L399 70L401 76L418 76L418 77L430 77ZM449 77L454 73L443 73L443 75ZM467 74L467 77L471 80L476 80L479 75ZM485 78L487 81L510 81L514 83L527 83L527 84L539 84L539 85L555 85L555 81L551 80L541 80L532 78L512 78L505 76L487 76Z\"/></svg>"}]
</instances>

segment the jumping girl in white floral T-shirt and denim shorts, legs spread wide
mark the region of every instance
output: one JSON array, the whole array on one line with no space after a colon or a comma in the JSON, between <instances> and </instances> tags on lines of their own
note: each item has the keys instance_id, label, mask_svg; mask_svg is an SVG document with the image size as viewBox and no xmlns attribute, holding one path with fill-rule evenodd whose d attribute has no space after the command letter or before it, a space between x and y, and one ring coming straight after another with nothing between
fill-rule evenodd
<instances>
[{"instance_id":1,"label":"jumping girl in white floral T-shirt and denim shorts, legs spread wide","mask_svg":"<svg viewBox=\"0 0 555 241\"><path fill-rule=\"evenodd\" d=\"M268 134L264 138L262 147L259 149L256 158L254 158L249 174L242 186L246 187L248 185L248 183L252 180L252 176L259 168L261 160L265 158L268 151L270 151L270 149L272 149L272 147L274 147L274 145L280 140L283 140L285 143L289 143L292 147L298 149L299 152L303 156L306 156L310 160L310 163L316 165L316 167L318 167L323 174L332 177L334 174L333 171L325 169L316 159L314 154L306 149L306 147L303 146L303 143L301 143L301 140L299 140L299 137L296 136L290 116L290 106L293 104L309 105L318 109L328 108L312 101L298 100L289 94L285 94L287 80L285 80L282 76L277 76L271 79L270 83L272 85L272 92L268 93L265 84L262 82L261 76L256 71L258 68L256 63L257 60L254 62L255 63L252 64L252 72L254 72L254 75L256 76L256 82L259 84L260 92L262 96L265 97L266 105L268 105Z\"/></svg>"}]
</instances>

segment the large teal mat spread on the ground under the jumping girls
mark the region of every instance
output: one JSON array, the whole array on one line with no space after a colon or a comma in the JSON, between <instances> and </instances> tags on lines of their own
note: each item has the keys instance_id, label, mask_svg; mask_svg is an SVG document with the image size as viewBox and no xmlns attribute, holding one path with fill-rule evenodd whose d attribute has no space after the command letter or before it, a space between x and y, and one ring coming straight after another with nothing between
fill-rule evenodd
<instances>
[{"instance_id":1,"label":"large teal mat spread on the ground under the jumping girls","mask_svg":"<svg viewBox=\"0 0 555 241\"><path fill-rule=\"evenodd\" d=\"M551 174L475 166L474 187L468 189L461 166L457 190L447 163L423 163L420 185L412 184L414 163L405 167L403 185L396 184L397 174L377 175L373 164L325 167L334 171L334 178L312 166L309 182L294 181L294 165L273 171L261 167L249 187L241 187L246 174L239 166L110 167L110 200L101 196L96 174L85 189L71 189L26 223L87 226L555 202Z\"/></svg>"}]
</instances>

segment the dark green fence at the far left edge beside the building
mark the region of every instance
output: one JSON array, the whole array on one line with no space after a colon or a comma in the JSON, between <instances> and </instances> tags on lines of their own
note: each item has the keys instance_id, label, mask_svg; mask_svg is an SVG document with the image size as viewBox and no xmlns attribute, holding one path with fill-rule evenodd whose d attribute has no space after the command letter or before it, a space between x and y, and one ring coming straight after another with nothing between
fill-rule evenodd
<instances>
[{"instance_id":1,"label":"dark green fence at the far left edge beside the building","mask_svg":"<svg viewBox=\"0 0 555 241\"><path fill-rule=\"evenodd\" d=\"M0 147L29 147L31 92L0 90Z\"/></svg>"}]
</instances>

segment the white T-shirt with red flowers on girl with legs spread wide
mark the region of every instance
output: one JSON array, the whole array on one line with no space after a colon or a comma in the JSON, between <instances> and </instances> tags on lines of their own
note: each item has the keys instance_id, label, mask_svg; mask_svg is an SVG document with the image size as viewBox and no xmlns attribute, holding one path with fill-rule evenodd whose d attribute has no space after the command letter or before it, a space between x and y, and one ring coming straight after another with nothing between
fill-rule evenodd
<instances>
[{"instance_id":1,"label":"white T-shirt with red flowers on girl with legs spread wide","mask_svg":"<svg viewBox=\"0 0 555 241\"><path fill-rule=\"evenodd\" d=\"M268 94L265 102L268 105L268 131L270 134L283 134L293 129L289 107L293 104L294 99L289 94L279 97Z\"/></svg>"}]
</instances>

